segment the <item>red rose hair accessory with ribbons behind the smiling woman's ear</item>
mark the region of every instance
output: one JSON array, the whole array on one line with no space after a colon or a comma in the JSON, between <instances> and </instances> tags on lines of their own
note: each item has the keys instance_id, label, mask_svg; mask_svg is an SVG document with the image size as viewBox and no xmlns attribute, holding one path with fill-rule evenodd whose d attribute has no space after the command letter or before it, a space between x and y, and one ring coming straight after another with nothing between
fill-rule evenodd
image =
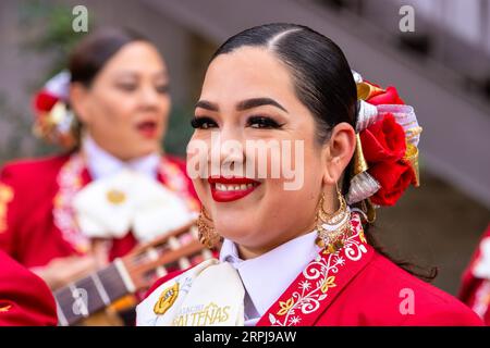
<instances>
[{"instance_id":1,"label":"red rose hair accessory with ribbons behind the smiling woman's ear","mask_svg":"<svg viewBox=\"0 0 490 348\"><path fill-rule=\"evenodd\" d=\"M414 109L396 88L363 80L353 72L357 87L356 151L347 202L367 207L393 206L405 189L419 186L418 149L421 127ZM370 215L370 216L369 216Z\"/></svg>"}]
</instances>

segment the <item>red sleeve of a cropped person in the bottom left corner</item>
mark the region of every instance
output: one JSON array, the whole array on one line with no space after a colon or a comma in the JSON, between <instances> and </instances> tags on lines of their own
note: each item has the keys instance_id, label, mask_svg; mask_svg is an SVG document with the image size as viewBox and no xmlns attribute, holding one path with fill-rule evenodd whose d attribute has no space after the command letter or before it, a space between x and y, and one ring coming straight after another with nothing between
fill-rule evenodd
<instances>
[{"instance_id":1,"label":"red sleeve of a cropped person in the bottom left corner","mask_svg":"<svg viewBox=\"0 0 490 348\"><path fill-rule=\"evenodd\" d=\"M0 326L57 325L48 286L0 250Z\"/></svg>"}]
</instances>

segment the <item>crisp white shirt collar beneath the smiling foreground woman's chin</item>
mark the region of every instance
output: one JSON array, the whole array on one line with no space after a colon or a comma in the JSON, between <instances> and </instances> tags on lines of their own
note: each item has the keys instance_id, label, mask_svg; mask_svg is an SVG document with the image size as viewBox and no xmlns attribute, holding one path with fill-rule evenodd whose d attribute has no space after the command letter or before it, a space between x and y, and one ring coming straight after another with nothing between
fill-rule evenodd
<instances>
[{"instance_id":1,"label":"crisp white shirt collar beneath the smiling foreground woman's chin","mask_svg":"<svg viewBox=\"0 0 490 348\"><path fill-rule=\"evenodd\" d=\"M245 287L245 325L256 325L267 310L315 259L317 232L292 239L257 258L242 260L236 245L224 239L220 261L230 262Z\"/></svg>"}]
</instances>

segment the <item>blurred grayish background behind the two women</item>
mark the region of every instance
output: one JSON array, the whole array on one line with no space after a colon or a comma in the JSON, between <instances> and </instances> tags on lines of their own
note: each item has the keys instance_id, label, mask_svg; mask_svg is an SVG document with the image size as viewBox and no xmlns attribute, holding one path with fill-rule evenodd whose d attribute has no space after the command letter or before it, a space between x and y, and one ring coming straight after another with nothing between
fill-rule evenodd
<instances>
[{"instance_id":1,"label":"blurred grayish background behind the two women","mask_svg":"<svg viewBox=\"0 0 490 348\"><path fill-rule=\"evenodd\" d=\"M53 153L30 134L33 92L63 67L83 34L134 28L156 42L171 73L169 152L185 153L193 105L210 54L229 36L268 22L305 24L344 50L351 66L394 85L424 127L421 187L379 210L376 233L392 254L437 265L434 284L455 295L490 223L490 1L488 0L127 0L0 2L0 165ZM403 33L402 5L414 10Z\"/></svg>"}]
</instances>

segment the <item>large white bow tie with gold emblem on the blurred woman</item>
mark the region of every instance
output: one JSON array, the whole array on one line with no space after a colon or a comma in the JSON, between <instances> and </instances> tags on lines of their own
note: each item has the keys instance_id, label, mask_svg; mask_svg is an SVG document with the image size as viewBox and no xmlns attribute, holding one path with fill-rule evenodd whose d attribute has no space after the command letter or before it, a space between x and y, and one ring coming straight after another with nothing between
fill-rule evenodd
<instances>
[{"instance_id":1,"label":"large white bow tie with gold emblem on the blurred woman","mask_svg":"<svg viewBox=\"0 0 490 348\"><path fill-rule=\"evenodd\" d=\"M74 198L81 231L90 238L122 238L133 231L149 241L187 224L194 214L160 183L124 170L84 187Z\"/></svg>"}]
</instances>

